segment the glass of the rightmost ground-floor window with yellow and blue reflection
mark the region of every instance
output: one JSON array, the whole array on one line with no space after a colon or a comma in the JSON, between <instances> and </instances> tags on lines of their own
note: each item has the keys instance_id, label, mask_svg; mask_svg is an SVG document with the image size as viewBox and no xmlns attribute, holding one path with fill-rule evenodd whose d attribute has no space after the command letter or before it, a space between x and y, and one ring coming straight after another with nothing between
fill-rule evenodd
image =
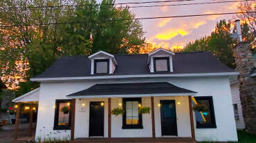
<instances>
[{"instance_id":1,"label":"glass of the rightmost ground-floor window with yellow and blue reflection","mask_svg":"<svg viewBox=\"0 0 256 143\"><path fill-rule=\"evenodd\" d=\"M196 113L197 117L201 116L201 118L196 118L196 122L200 124L212 124L209 100L197 100L197 102L204 105L205 111Z\"/></svg>"}]
</instances>

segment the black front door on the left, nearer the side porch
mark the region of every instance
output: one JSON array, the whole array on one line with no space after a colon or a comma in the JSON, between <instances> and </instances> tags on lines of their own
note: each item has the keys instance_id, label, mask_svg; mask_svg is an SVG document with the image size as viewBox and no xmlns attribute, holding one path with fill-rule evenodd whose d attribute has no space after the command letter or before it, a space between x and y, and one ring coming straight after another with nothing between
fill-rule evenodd
<instances>
[{"instance_id":1,"label":"black front door on the left, nearer the side porch","mask_svg":"<svg viewBox=\"0 0 256 143\"><path fill-rule=\"evenodd\" d=\"M89 136L104 135L104 102L90 102Z\"/></svg>"}]
</instances>

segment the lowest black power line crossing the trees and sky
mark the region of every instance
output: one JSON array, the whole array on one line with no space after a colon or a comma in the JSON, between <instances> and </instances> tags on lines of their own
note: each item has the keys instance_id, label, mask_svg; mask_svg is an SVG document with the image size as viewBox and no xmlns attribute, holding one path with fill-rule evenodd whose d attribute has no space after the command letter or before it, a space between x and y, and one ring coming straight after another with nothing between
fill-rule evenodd
<instances>
[{"instance_id":1,"label":"lowest black power line crossing the trees and sky","mask_svg":"<svg viewBox=\"0 0 256 143\"><path fill-rule=\"evenodd\" d=\"M256 12L256 11L253 11ZM143 17L134 19L112 19L106 21L131 21L131 20L145 20L145 19L168 19L168 18L181 18L181 17L203 17L211 15L225 15L225 14L245 14L253 12L226 12L226 13L214 13L214 14L192 14L192 15L179 15L179 16L168 16L168 17ZM90 21L87 21L90 22ZM0 25L0 28L10 28L10 27L21 27L21 26L39 26L39 25L60 25L60 24L75 24L75 23L87 23L87 22L65 22L65 23L43 23L43 24L28 24L28 25Z\"/></svg>"}]
</instances>

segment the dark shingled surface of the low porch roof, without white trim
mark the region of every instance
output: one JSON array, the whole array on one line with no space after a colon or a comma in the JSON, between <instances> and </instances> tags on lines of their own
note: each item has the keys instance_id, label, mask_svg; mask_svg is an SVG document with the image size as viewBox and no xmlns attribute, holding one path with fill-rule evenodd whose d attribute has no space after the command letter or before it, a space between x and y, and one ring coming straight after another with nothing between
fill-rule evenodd
<instances>
[{"instance_id":1,"label":"dark shingled surface of the low porch roof, without white trim","mask_svg":"<svg viewBox=\"0 0 256 143\"><path fill-rule=\"evenodd\" d=\"M106 95L129 95L129 94L182 94L196 93L188 89L176 87L167 82L163 83L119 83L98 84L68 96L106 96Z\"/></svg>"}]
</instances>

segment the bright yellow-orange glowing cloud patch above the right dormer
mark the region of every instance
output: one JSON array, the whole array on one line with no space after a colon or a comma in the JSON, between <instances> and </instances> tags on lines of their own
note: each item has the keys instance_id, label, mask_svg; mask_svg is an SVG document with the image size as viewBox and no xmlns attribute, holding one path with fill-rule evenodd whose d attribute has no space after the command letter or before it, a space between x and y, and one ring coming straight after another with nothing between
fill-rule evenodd
<instances>
[{"instance_id":1,"label":"bright yellow-orange glowing cloud patch above the right dormer","mask_svg":"<svg viewBox=\"0 0 256 143\"><path fill-rule=\"evenodd\" d=\"M170 29L166 32L163 32L161 34L156 34L156 39L158 40L170 40L172 39L174 36L177 36L178 34L180 34L181 36L185 36L188 35L189 32L186 30L182 30L182 29Z\"/></svg>"}]
</instances>

